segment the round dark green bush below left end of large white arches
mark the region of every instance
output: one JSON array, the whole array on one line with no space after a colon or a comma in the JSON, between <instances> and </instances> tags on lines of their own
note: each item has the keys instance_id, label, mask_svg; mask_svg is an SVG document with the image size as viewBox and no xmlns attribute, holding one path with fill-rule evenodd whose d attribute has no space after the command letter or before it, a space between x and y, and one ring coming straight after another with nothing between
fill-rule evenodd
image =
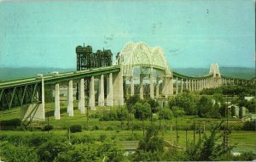
<instances>
[{"instance_id":1,"label":"round dark green bush below left end of large white arches","mask_svg":"<svg viewBox=\"0 0 256 162\"><path fill-rule=\"evenodd\" d=\"M146 120L151 116L151 108L148 103L136 103L134 109L134 116L139 120Z\"/></svg>"}]
</instances>

